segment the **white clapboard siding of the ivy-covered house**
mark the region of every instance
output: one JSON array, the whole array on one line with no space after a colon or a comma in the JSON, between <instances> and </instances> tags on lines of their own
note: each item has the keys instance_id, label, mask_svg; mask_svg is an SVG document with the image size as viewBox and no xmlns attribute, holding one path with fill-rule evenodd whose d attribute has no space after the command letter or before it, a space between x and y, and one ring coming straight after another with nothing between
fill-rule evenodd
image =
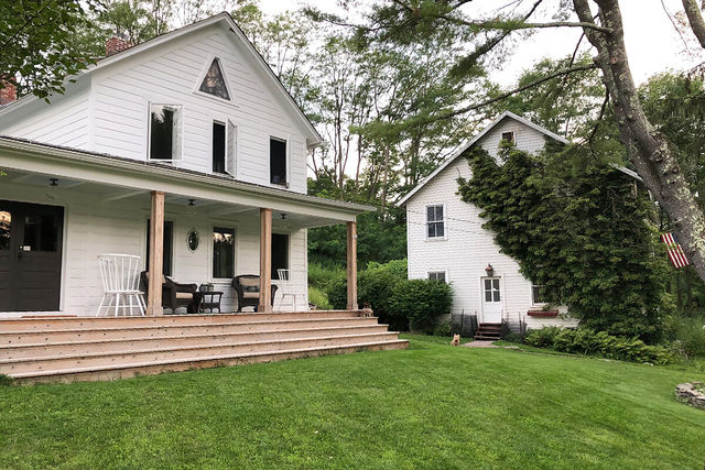
<instances>
[{"instance_id":1,"label":"white clapboard siding of the ivy-covered house","mask_svg":"<svg viewBox=\"0 0 705 470\"><path fill-rule=\"evenodd\" d=\"M500 121L476 145L481 145L491 155L497 155L502 132L513 131L517 146L528 152L538 152L545 144L541 132L507 118ZM445 271L453 285L453 311L477 314L481 321L480 280L485 267L491 264L495 275L501 277L502 308L510 318L525 316L532 305L531 282L519 272L519 264L499 252L494 233L481 226L480 210L460 200L457 195L458 177L469 178L470 167L465 157L452 164L429 181L406 204L406 238L409 277L426 278L429 271ZM444 204L446 239L427 240L425 210L429 205ZM527 318L529 327L553 323L550 319ZM573 325L574 323L571 323Z\"/></svg>"}]
</instances>

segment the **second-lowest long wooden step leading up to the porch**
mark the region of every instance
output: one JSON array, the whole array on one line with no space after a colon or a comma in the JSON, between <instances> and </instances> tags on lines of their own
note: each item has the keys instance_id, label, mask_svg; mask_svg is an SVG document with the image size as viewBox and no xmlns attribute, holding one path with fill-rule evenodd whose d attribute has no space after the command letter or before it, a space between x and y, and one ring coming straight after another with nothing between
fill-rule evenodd
<instances>
[{"instance_id":1,"label":"second-lowest long wooden step leading up to the porch","mask_svg":"<svg viewBox=\"0 0 705 470\"><path fill-rule=\"evenodd\" d=\"M232 357L238 354L286 351L291 349L332 348L352 343L384 342L397 339L395 332L373 332L361 335L324 336L232 342L223 345L204 343L188 347L153 348L135 351L91 352L86 354L57 354L52 357L19 358L0 360L0 373L10 376L25 372L63 370L77 368L100 368L123 363L162 362L170 360L192 360L202 357Z\"/></svg>"}]
</instances>

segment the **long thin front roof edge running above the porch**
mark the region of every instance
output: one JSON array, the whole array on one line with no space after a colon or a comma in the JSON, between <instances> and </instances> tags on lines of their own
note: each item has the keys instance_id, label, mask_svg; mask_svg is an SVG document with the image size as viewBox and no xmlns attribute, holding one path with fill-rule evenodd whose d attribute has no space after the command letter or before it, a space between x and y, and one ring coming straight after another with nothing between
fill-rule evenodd
<instances>
[{"instance_id":1,"label":"long thin front roof edge running above the porch","mask_svg":"<svg viewBox=\"0 0 705 470\"><path fill-rule=\"evenodd\" d=\"M347 214L360 215L376 210L373 206L324 199L322 197L308 196L306 194L294 193L286 189L271 188L268 186L257 185L254 183L231 179L227 176L209 175L189 170L175 168L159 163L126 159L105 153L88 152L78 149L29 141L25 139L10 138L7 135L0 135L0 151L2 150L41 154L43 156L61 159L68 162L95 164L105 168L139 172L140 174L147 174L155 177L167 177L174 182L206 183L210 186L224 189L248 192L250 194L268 197L280 197L302 204L324 206L326 208L341 210Z\"/></svg>"}]
</instances>

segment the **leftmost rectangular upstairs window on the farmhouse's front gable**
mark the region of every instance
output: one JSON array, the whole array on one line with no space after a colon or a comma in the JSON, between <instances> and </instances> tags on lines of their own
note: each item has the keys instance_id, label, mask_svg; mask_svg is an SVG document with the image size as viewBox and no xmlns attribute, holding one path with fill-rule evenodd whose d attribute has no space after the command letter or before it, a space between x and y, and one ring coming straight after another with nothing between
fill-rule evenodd
<instances>
[{"instance_id":1,"label":"leftmost rectangular upstairs window on the farmhouse's front gable","mask_svg":"<svg viewBox=\"0 0 705 470\"><path fill-rule=\"evenodd\" d=\"M150 105L150 159L178 160L183 110L177 105Z\"/></svg>"}]
</instances>

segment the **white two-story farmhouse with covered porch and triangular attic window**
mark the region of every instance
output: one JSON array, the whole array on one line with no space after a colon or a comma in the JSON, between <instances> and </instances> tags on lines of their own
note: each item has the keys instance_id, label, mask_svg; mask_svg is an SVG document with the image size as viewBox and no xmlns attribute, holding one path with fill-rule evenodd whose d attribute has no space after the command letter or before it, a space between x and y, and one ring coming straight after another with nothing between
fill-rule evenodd
<instances>
[{"instance_id":1,"label":"white two-story farmhouse with covered porch and triangular attic window","mask_svg":"<svg viewBox=\"0 0 705 470\"><path fill-rule=\"evenodd\" d=\"M322 138L269 65L227 13L108 48L51 103L3 89L0 317L96 315L98 255L150 269L152 219L155 272L212 284L232 311L235 276L260 275L265 292L286 269L300 295L280 288L274 309L307 309L306 229L347 223L352 243L370 208L306 195Z\"/></svg>"}]
</instances>

